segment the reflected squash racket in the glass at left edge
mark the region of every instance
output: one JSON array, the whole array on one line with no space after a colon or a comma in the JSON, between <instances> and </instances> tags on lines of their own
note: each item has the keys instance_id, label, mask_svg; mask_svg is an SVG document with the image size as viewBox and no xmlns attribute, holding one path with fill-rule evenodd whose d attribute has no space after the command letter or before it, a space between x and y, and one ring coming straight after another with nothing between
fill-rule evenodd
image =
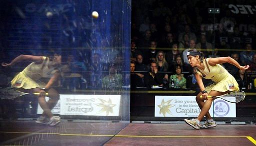
<instances>
[{"instance_id":1,"label":"reflected squash racket in the glass at left edge","mask_svg":"<svg viewBox=\"0 0 256 146\"><path fill-rule=\"evenodd\" d=\"M0 88L0 99L13 99L29 93L17 91L13 88ZM39 95L39 93L33 93L34 95ZM48 93L45 94L46 96Z\"/></svg>"}]
</instances>

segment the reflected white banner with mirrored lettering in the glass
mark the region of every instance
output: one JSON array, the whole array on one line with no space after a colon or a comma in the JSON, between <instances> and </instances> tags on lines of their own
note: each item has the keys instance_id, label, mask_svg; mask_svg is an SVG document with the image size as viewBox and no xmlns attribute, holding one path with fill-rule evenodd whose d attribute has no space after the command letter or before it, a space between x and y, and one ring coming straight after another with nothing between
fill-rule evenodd
<instances>
[{"instance_id":1,"label":"reflected white banner with mirrored lettering in the glass","mask_svg":"<svg viewBox=\"0 0 256 146\"><path fill-rule=\"evenodd\" d=\"M60 95L53 114L119 116L120 95ZM37 114L42 109L38 105Z\"/></svg>"}]
</instances>

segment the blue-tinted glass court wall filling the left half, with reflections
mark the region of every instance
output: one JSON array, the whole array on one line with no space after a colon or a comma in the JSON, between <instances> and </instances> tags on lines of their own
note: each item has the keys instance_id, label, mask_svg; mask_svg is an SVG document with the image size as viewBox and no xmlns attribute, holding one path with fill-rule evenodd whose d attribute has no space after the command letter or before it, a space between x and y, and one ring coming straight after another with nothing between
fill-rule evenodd
<instances>
[{"instance_id":1,"label":"blue-tinted glass court wall filling the left half, with reflections","mask_svg":"<svg viewBox=\"0 0 256 146\"><path fill-rule=\"evenodd\" d=\"M129 123L130 12L129 0L2 1L0 61L61 54L61 76L52 85L60 99L52 113L63 122L120 122L116 129L122 129ZM1 66L1 88L30 63ZM33 95L0 100L0 107L2 120L35 120L42 113Z\"/></svg>"}]
</instances>

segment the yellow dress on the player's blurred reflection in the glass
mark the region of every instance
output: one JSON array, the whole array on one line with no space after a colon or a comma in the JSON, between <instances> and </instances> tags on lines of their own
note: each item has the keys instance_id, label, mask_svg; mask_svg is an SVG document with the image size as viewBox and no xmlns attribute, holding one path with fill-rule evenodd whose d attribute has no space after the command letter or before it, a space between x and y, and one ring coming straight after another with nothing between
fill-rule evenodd
<instances>
[{"instance_id":1,"label":"yellow dress on the player's blurred reflection in the glass","mask_svg":"<svg viewBox=\"0 0 256 146\"><path fill-rule=\"evenodd\" d=\"M11 86L13 88L43 88L45 83L40 81L41 78L50 78L57 70L54 68L48 68L49 59L43 56L43 62L36 64L30 63L23 71L18 73L12 80Z\"/></svg>"}]
</instances>

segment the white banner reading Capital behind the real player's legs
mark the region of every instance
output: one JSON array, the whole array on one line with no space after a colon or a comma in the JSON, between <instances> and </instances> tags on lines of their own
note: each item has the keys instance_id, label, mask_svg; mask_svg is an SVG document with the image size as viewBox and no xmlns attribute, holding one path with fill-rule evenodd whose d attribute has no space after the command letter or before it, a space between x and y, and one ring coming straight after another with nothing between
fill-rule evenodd
<instances>
[{"instance_id":1,"label":"white banner reading Capital behind the real player's legs","mask_svg":"<svg viewBox=\"0 0 256 146\"><path fill-rule=\"evenodd\" d=\"M155 96L154 117L197 117L199 113L194 96ZM236 117L235 104L215 99L209 113L212 117Z\"/></svg>"}]
</instances>

